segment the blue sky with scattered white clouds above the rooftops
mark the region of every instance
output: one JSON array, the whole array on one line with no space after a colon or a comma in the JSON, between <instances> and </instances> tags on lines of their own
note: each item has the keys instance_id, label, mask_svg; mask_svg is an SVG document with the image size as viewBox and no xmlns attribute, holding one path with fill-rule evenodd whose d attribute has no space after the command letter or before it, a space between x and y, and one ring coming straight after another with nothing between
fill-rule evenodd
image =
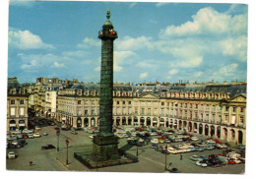
<instances>
[{"instance_id":1,"label":"blue sky with scattered white clouds above the rooftops","mask_svg":"<svg viewBox=\"0 0 256 179\"><path fill-rule=\"evenodd\" d=\"M247 81L244 4L11 1L8 77L99 82L106 10L114 82Z\"/></svg>"}]
</instances>

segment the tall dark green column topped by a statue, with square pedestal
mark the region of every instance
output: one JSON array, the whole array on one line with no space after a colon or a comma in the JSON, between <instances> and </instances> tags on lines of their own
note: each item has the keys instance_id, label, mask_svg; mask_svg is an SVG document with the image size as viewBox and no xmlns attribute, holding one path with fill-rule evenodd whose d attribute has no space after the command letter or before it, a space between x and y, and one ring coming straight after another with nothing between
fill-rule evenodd
<instances>
[{"instance_id":1,"label":"tall dark green column topped by a statue, with square pedestal","mask_svg":"<svg viewBox=\"0 0 256 179\"><path fill-rule=\"evenodd\" d=\"M113 108L113 41L118 37L109 21L110 11L106 12L106 22L98 33L101 39L101 71L99 98L99 132L93 140L93 154L97 160L117 159L118 139L112 132Z\"/></svg>"}]
</instances>

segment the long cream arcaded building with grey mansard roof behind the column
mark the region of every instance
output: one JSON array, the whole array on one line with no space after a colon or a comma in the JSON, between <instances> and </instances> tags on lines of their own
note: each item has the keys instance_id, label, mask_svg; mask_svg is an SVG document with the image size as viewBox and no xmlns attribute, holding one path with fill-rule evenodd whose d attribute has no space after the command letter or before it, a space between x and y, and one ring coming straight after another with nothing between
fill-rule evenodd
<instances>
[{"instance_id":1,"label":"long cream arcaded building with grey mansard roof behind the column","mask_svg":"<svg viewBox=\"0 0 256 179\"><path fill-rule=\"evenodd\" d=\"M98 126L99 95L98 85L60 90L57 120ZM246 84L114 86L113 125L169 127L245 144Z\"/></svg>"}]
</instances>

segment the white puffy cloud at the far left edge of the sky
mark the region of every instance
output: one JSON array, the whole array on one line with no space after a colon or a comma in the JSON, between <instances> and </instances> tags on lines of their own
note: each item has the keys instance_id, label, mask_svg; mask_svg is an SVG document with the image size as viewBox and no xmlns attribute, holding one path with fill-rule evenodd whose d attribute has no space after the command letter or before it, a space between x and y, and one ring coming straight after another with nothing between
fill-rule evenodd
<instances>
[{"instance_id":1,"label":"white puffy cloud at the far left edge of the sky","mask_svg":"<svg viewBox=\"0 0 256 179\"><path fill-rule=\"evenodd\" d=\"M40 36L32 34L30 30L9 30L9 46L22 50L54 49L51 44L44 43Z\"/></svg>"}]
</instances>

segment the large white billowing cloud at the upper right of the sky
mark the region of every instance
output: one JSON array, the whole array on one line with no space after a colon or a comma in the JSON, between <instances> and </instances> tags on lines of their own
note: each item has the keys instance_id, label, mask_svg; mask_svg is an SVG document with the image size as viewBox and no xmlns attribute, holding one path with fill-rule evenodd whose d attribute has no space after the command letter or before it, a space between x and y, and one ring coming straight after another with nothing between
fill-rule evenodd
<instances>
[{"instance_id":1,"label":"large white billowing cloud at the upper right of the sky","mask_svg":"<svg viewBox=\"0 0 256 179\"><path fill-rule=\"evenodd\" d=\"M203 8L192 16L193 21L160 30L160 38L191 35L231 35L247 33L247 16L219 13L213 8Z\"/></svg>"}]
</instances>

